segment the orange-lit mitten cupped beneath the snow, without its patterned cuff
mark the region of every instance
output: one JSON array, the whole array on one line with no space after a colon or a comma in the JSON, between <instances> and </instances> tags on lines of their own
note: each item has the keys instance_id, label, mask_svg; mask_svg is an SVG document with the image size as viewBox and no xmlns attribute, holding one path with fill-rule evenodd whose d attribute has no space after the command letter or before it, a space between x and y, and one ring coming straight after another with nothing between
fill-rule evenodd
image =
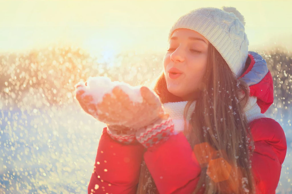
<instances>
[{"instance_id":1,"label":"orange-lit mitten cupped beneath the snow, without its patterned cuff","mask_svg":"<svg viewBox=\"0 0 292 194\"><path fill-rule=\"evenodd\" d=\"M142 102L131 100L119 85L111 94L105 94L99 103L89 94L86 84L78 84L76 90L76 98L83 110L109 125L138 129L164 116L159 97L145 86L140 88Z\"/></svg>"}]
</instances>

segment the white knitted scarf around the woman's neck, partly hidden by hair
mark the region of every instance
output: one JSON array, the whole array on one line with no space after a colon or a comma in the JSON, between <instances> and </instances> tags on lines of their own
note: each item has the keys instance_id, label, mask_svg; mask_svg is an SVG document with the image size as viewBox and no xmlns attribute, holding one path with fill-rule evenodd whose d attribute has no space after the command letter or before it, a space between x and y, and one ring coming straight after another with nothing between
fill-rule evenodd
<instances>
[{"instance_id":1,"label":"white knitted scarf around the woman's neck, partly hidden by hair","mask_svg":"<svg viewBox=\"0 0 292 194\"><path fill-rule=\"evenodd\" d=\"M246 106L244 107L244 112L247 117L248 123L259 118L265 117L264 114L260 113L260 107L256 103L257 98L256 97L249 97L248 102ZM187 101L183 102L174 102L174 103L164 103L163 104L163 110L169 114L170 118L172 119L174 123L174 130L176 132L183 131L185 126L185 121L183 118L185 106L187 104ZM196 101L194 101L187 112L187 120L190 119L192 112L194 111L196 105Z\"/></svg>"}]
</instances>

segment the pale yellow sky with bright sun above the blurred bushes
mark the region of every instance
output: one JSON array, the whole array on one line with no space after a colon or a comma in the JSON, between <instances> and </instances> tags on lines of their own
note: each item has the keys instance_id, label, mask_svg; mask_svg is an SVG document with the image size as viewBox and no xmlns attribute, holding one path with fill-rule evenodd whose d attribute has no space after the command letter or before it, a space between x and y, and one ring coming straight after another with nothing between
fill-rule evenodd
<instances>
[{"instance_id":1,"label":"pale yellow sky with bright sun above the blurred bushes","mask_svg":"<svg viewBox=\"0 0 292 194\"><path fill-rule=\"evenodd\" d=\"M0 52L76 45L110 57L121 51L165 52L168 31L199 7L233 6L246 20L251 49L292 50L292 1L2 1Z\"/></svg>"}]
</instances>

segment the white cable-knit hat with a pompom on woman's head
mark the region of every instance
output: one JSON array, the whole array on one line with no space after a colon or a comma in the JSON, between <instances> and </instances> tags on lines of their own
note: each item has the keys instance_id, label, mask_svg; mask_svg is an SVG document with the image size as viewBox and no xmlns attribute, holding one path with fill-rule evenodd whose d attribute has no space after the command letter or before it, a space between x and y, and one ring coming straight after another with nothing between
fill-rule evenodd
<instances>
[{"instance_id":1,"label":"white cable-knit hat with a pompom on woman's head","mask_svg":"<svg viewBox=\"0 0 292 194\"><path fill-rule=\"evenodd\" d=\"M199 8L180 17L173 24L168 39L179 28L200 33L218 50L232 72L239 77L248 57L249 43L244 25L244 17L234 7Z\"/></svg>"}]
</instances>

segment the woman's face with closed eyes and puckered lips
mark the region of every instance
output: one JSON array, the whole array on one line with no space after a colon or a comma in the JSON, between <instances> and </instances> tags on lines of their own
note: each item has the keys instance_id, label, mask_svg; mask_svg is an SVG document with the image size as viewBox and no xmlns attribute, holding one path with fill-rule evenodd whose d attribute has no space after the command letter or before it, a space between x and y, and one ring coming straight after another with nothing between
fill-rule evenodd
<instances>
[{"instance_id":1,"label":"woman's face with closed eyes and puckered lips","mask_svg":"<svg viewBox=\"0 0 292 194\"><path fill-rule=\"evenodd\" d=\"M196 31L176 29L173 32L163 59L169 92L183 100L194 98L206 72L208 44Z\"/></svg>"}]
</instances>

